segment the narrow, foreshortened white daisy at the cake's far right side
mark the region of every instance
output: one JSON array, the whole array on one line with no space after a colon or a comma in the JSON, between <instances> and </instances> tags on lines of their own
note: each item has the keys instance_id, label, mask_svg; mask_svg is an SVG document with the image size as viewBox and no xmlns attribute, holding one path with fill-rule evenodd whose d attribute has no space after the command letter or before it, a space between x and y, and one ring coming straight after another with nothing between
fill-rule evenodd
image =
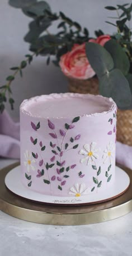
<instances>
[{"instance_id":1,"label":"narrow, foreshortened white daisy at the cake's far right side","mask_svg":"<svg viewBox=\"0 0 132 256\"><path fill-rule=\"evenodd\" d=\"M110 141L106 149L103 151L103 163L105 163L107 160L109 160L110 163L112 163L114 149L114 144Z\"/></svg>"}]
</instances>

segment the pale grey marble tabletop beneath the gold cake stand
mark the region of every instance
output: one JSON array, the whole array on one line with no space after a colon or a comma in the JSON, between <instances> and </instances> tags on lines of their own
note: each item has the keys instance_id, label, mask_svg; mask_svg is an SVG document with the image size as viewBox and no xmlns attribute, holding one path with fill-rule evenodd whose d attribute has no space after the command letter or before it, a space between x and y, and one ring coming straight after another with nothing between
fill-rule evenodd
<instances>
[{"instance_id":1,"label":"pale grey marble tabletop beneath the gold cake stand","mask_svg":"<svg viewBox=\"0 0 132 256\"><path fill-rule=\"evenodd\" d=\"M0 169L17 160L0 159ZM0 211L0 255L131 256L132 213L86 226L48 226Z\"/></svg>"}]
</instances>

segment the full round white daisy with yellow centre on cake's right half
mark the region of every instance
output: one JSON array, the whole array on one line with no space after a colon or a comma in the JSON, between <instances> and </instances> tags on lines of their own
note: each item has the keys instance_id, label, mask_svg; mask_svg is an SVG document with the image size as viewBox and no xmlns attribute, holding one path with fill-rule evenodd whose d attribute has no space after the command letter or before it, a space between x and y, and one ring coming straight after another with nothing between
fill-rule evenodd
<instances>
[{"instance_id":1,"label":"full round white daisy with yellow centre on cake's right half","mask_svg":"<svg viewBox=\"0 0 132 256\"><path fill-rule=\"evenodd\" d=\"M81 163L87 161L87 165L89 165L92 163L92 161L95 161L98 158L98 152L100 151L100 149L97 149L96 145L96 142L92 142L90 146L89 144L84 144L84 150L81 149L79 151L80 155L84 155L84 158L81 159Z\"/></svg>"}]
</instances>

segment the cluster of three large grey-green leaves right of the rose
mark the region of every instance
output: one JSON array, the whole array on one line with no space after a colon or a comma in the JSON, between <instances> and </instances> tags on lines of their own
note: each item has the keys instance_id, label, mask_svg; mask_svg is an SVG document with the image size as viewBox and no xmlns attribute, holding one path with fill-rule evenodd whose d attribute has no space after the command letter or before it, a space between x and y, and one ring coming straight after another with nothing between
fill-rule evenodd
<instances>
[{"instance_id":1,"label":"cluster of three large grey-green leaves right of the rose","mask_svg":"<svg viewBox=\"0 0 132 256\"><path fill-rule=\"evenodd\" d=\"M107 42L105 48L86 43L86 54L98 76L101 95L112 97L120 109L129 108L132 97L124 75L128 75L130 64L122 47L114 39Z\"/></svg>"}]
</instances>

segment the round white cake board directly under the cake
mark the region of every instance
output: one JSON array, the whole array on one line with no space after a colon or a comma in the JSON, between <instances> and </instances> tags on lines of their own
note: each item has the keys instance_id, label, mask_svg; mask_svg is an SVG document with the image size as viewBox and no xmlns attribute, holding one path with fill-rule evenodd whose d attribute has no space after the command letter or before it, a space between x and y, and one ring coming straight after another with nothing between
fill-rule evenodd
<instances>
[{"instance_id":1,"label":"round white cake board directly under the cake","mask_svg":"<svg viewBox=\"0 0 132 256\"><path fill-rule=\"evenodd\" d=\"M128 174L119 167L115 169L115 183L112 189L105 190L98 194L89 194L81 197L66 196L48 196L26 188L21 182L20 165L10 170L5 178L7 188L18 196L24 197L38 203L56 204L56 205L81 205L81 204L97 204L103 201L114 199L122 195L130 184ZM17 180L17 182L16 182Z\"/></svg>"}]
</instances>

